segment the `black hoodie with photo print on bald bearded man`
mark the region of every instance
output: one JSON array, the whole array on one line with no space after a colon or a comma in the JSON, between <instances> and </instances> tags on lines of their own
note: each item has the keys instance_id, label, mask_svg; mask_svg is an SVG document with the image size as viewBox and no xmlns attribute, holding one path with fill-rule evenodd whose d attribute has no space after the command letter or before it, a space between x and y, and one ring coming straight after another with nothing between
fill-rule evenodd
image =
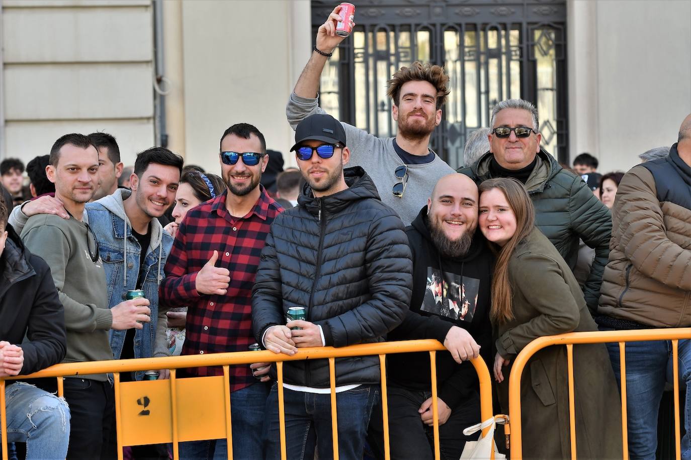
<instances>
[{"instance_id":1,"label":"black hoodie with photo print on bald bearded man","mask_svg":"<svg viewBox=\"0 0 691 460\"><path fill-rule=\"evenodd\" d=\"M435 247L428 228L427 206L406 228L413 253L413 297L403 323L388 335L389 340L437 339L444 343L452 326L468 330L480 345L480 354L491 368L492 328L489 321L494 255L480 230L463 259L443 257ZM446 290L433 292L440 286ZM460 288L460 282L463 288ZM463 296L463 292L465 296ZM467 303L466 303L467 302ZM456 303L467 310L455 314L449 305ZM463 314L464 313L464 314ZM430 391L430 355L428 352L390 354L386 370L388 383L408 390ZM453 410L468 395L477 391L477 372L470 362L457 364L449 352L437 352L437 390L439 397Z\"/></svg>"}]
</instances>

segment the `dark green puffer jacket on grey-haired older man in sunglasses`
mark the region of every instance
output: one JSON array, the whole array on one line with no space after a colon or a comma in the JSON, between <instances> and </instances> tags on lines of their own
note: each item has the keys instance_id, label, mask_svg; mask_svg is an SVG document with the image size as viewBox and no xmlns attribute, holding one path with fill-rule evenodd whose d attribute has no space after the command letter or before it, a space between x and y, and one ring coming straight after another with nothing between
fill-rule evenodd
<instances>
[{"instance_id":1,"label":"dark green puffer jacket on grey-haired older man in sunglasses","mask_svg":"<svg viewBox=\"0 0 691 460\"><path fill-rule=\"evenodd\" d=\"M493 154L487 152L473 166L459 168L458 172L480 185L482 181L492 179L489 172L492 157ZM578 239L595 248L595 260L583 286L583 295L590 311L596 312L603 271L609 257L612 214L580 176L562 168L551 154L542 149L525 188L535 205L536 226L557 248L571 270L576 267Z\"/></svg>"}]
</instances>

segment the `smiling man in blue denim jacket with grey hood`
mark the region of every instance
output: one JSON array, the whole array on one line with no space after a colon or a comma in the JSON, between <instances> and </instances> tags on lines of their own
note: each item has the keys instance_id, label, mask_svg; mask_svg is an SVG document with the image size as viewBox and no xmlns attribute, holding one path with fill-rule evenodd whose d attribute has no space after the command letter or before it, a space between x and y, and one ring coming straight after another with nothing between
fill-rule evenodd
<instances>
[{"instance_id":1,"label":"smiling man in blue denim jacket with grey hood","mask_svg":"<svg viewBox=\"0 0 691 460\"><path fill-rule=\"evenodd\" d=\"M183 160L166 148L154 147L137 155L131 175L132 191L118 189L112 195L86 204L85 221L98 241L100 257L106 270L108 306L124 301L128 290L144 290L149 300L151 322L142 329L111 330L110 341L115 359L167 356L165 345L166 314L158 309L158 285L163 279L173 237L164 232L160 217L175 200ZM33 214L48 212L30 203L10 218L21 231ZM61 214L61 208L52 213ZM146 246L142 248L142 246ZM144 254L144 257L142 257ZM136 372L141 380L144 372ZM162 370L161 377L168 371ZM130 380L122 374L122 381Z\"/></svg>"}]
</instances>

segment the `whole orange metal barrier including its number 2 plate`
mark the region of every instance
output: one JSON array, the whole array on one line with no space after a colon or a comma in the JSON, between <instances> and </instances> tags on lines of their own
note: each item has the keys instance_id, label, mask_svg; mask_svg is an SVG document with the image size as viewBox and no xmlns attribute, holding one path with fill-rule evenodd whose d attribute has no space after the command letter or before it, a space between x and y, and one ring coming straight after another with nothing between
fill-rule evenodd
<instances>
[{"instance_id":1,"label":"whole orange metal barrier including its number 2 plate","mask_svg":"<svg viewBox=\"0 0 691 460\"><path fill-rule=\"evenodd\" d=\"M432 378L432 410L434 420L435 459L439 460L439 412L437 408L437 374L435 357L439 350L446 350L436 340L396 341L369 343L343 348L301 348L294 356L262 352L218 353L195 356L121 359L88 363L65 363L51 366L28 376L0 379L0 436L2 454L7 458L7 426L5 414L5 380L34 379L39 377L63 377L113 373L115 379L115 420L117 423L117 454L122 460L123 446L173 443L173 458L178 459L178 443L202 439L227 439L228 458L233 458L229 388L229 365L257 362L276 362L278 378L278 408L281 433L281 459L285 460L285 417L283 414L283 361L303 359L328 359L331 386L332 436L334 460L338 460L338 429L336 408L336 378L334 359L341 357L378 355L381 364L381 401L384 417L386 459L390 459L388 433L388 406L386 394L386 354L424 352L430 353ZM480 411L482 420L492 413L491 379L481 358L471 361L480 379ZM223 366L223 376L177 379L176 369L202 366ZM169 380L120 382L121 372L137 370L170 369ZM62 379L58 378L59 394ZM488 428L489 430L489 428ZM486 433L486 430L484 431Z\"/></svg>"}]
</instances>

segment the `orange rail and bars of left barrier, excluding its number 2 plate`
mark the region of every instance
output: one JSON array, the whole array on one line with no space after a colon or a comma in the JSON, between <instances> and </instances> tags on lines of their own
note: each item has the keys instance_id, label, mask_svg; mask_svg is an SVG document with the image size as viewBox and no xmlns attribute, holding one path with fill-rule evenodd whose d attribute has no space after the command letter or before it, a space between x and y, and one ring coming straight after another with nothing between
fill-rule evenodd
<instances>
[{"instance_id":1,"label":"orange rail and bars of left barrier, excluding its number 2 plate","mask_svg":"<svg viewBox=\"0 0 691 460\"><path fill-rule=\"evenodd\" d=\"M4 457L7 457L7 426L6 426L6 399L5 399L5 380L26 380L44 377L56 377L58 394L63 394L63 376L81 376L89 374L105 374L113 373L115 375L115 403L116 412L115 418L117 427L122 426L122 414L120 413L120 373L121 372L135 372L140 370L151 369L169 369L170 370L170 389L171 389L171 418L172 418L172 443L173 443L173 459L178 460L180 457L179 443L180 436L178 434L178 403L177 403L177 378L176 369L178 368L194 368L207 366L224 366L225 388L229 388L229 373L227 366L236 364L250 364L261 361L276 362L276 370L278 373L278 418L279 428L281 431L281 459L286 459L286 440L285 440L285 410L284 410L284 394L283 394L283 362L284 361L300 361L305 359L329 359L330 360L330 386L332 388L332 423L334 434L334 449L335 457L337 459L337 412L336 412L336 394L335 394L335 358L339 357L359 357L378 355L381 363L381 384L382 384L382 401L384 406L384 439L386 458L390 458L390 439L388 432L388 399L386 396L386 354L393 353L409 353L409 352L424 352L430 351L430 367L434 370L436 365L435 351L446 350L441 343L436 340L414 340L414 341L397 341L384 343L364 343L361 345L348 346L343 348L319 347L319 348L301 348L298 353L293 356L287 354L274 354L269 351L262 352L232 352L232 353L217 353L205 354L195 356L178 356L178 357L161 357L161 358L142 358L142 359L120 359L110 361L91 361L86 363L61 363L50 368L46 368L34 374L25 376L13 376L0 378L0 434L2 434L1 447ZM491 396L491 379L489 370L481 358L473 359L471 361L477 372L477 377L480 381L480 408L482 419L486 420L493 417L492 412L492 396ZM432 372L432 392L433 392L433 420L435 430L435 457L439 459L439 413L437 406L437 375ZM231 423L230 423L230 401L229 394L227 395L227 439L228 439L228 457L231 457ZM483 430L483 435L489 428ZM117 434L118 457L122 459L122 437L120 430Z\"/></svg>"}]
</instances>

